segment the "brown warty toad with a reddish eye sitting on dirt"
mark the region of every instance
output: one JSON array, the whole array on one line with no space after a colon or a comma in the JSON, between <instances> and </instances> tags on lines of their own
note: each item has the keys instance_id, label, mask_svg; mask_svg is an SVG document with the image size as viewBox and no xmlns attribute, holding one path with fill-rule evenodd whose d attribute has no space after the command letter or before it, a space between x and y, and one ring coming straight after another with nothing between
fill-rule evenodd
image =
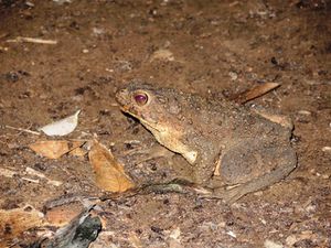
<instances>
[{"instance_id":1,"label":"brown warty toad with a reddish eye sitting on dirt","mask_svg":"<svg viewBox=\"0 0 331 248\"><path fill-rule=\"evenodd\" d=\"M296 168L286 117L139 83L116 98L159 143L194 166L194 183L226 202L277 183Z\"/></svg>"}]
</instances>

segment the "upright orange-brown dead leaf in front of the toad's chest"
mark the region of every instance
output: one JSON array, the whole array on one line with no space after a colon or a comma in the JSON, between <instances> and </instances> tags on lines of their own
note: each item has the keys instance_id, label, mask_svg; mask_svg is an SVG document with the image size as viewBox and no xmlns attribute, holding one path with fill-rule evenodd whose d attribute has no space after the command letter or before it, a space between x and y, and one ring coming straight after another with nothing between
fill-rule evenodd
<instances>
[{"instance_id":1,"label":"upright orange-brown dead leaf in front of the toad's chest","mask_svg":"<svg viewBox=\"0 0 331 248\"><path fill-rule=\"evenodd\" d=\"M102 190L125 192L135 186L125 173L124 165L98 141L94 141L88 158L94 168L96 184Z\"/></svg>"}]
</instances>

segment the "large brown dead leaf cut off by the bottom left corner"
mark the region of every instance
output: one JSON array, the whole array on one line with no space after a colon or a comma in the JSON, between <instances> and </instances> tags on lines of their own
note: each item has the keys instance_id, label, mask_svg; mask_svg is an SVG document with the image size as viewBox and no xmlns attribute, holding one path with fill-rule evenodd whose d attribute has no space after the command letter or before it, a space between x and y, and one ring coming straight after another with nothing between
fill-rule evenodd
<instances>
[{"instance_id":1,"label":"large brown dead leaf cut off by the bottom left corner","mask_svg":"<svg viewBox=\"0 0 331 248\"><path fill-rule=\"evenodd\" d=\"M8 247L12 238L45 224L43 214L31 206L9 211L0 209L0 247Z\"/></svg>"}]
</instances>

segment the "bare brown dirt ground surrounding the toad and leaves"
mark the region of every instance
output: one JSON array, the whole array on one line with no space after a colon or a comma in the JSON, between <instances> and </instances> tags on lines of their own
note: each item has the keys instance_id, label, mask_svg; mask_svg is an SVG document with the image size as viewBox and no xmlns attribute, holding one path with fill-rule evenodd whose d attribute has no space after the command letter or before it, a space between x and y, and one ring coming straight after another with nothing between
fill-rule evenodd
<instances>
[{"instance_id":1,"label":"bare brown dirt ground surrounding the toad and leaves","mask_svg":"<svg viewBox=\"0 0 331 248\"><path fill-rule=\"evenodd\" d=\"M156 141L119 110L119 87L141 79L222 97L276 82L252 103L292 118L290 176L232 206L177 193L105 202L90 247L331 247L331 2L62 2L0 1L0 169L18 173L0 175L0 208L100 192L87 158L42 158L28 148L41 137L9 127L36 130L82 109L70 138L96 133L136 182L167 181L164 159L125 155ZM8 42L18 36L57 44ZM26 168L63 184L36 183Z\"/></svg>"}]
</instances>

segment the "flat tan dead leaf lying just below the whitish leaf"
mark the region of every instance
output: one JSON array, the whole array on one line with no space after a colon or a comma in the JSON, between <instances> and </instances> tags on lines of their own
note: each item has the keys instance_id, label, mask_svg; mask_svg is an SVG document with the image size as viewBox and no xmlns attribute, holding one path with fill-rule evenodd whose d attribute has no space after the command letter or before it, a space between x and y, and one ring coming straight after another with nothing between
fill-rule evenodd
<instances>
[{"instance_id":1,"label":"flat tan dead leaf lying just below the whitish leaf","mask_svg":"<svg viewBox=\"0 0 331 248\"><path fill-rule=\"evenodd\" d=\"M84 141L40 140L30 144L29 148L40 155L56 160L83 144Z\"/></svg>"}]
</instances>

